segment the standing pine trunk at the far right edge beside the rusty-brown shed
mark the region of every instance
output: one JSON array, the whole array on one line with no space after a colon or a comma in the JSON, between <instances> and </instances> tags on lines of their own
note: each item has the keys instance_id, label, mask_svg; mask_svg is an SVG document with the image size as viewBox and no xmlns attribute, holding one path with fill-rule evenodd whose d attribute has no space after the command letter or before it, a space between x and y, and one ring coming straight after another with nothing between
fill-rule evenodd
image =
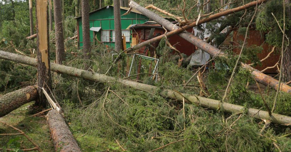
<instances>
[{"instance_id":1,"label":"standing pine trunk at the far right edge beside the rusty-brown shed","mask_svg":"<svg viewBox=\"0 0 291 152\"><path fill-rule=\"evenodd\" d=\"M285 14L286 18L291 18L291 6L290 0L285 0ZM285 31L285 34L290 39L291 38L291 29ZM287 46L287 49L283 57L283 66L281 67L282 72L282 82L291 81L291 45Z\"/></svg>"}]
</instances>

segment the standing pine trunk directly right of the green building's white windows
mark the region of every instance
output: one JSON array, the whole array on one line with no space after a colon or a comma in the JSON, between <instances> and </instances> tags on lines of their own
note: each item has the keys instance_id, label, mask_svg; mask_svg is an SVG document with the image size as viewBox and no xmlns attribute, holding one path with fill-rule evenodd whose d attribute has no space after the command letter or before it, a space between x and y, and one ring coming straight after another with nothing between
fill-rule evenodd
<instances>
[{"instance_id":1,"label":"standing pine trunk directly right of the green building's white windows","mask_svg":"<svg viewBox=\"0 0 291 152\"><path fill-rule=\"evenodd\" d=\"M115 51L120 51L123 48L121 38L121 19L120 19L120 4L119 0L113 2L114 10L114 32L115 32Z\"/></svg>"}]
</instances>

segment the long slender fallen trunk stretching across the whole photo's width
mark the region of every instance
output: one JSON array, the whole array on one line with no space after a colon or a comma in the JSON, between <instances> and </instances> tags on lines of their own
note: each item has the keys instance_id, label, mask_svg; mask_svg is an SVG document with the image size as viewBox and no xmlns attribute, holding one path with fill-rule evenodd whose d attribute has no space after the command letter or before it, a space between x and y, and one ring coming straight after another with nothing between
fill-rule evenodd
<instances>
[{"instance_id":1,"label":"long slender fallen trunk stretching across the whole photo's width","mask_svg":"<svg viewBox=\"0 0 291 152\"><path fill-rule=\"evenodd\" d=\"M6 60L23 63L23 64L27 64L31 66L37 66L37 61L34 58L23 56L23 55L17 55L17 54L5 52L5 51L0 51L0 59L6 59ZM145 90L148 92L154 92L155 90L157 90L156 86L142 84L142 83L133 82L129 80L116 79L114 77L110 77L104 74L98 74L91 71L81 70L74 67L64 66L64 65L55 64L55 63L51 63L51 71L55 71L61 74L68 74L70 76L74 76L77 78L82 78L82 79L90 80L94 82L96 81L104 82L104 83L119 82L124 85L130 86L136 89ZM161 95L164 97L172 98L174 100L179 100L179 101L183 101L183 97L184 97L184 99L186 99L185 100L186 103L191 103L191 104L193 103L193 104L201 105L202 107L211 108L214 110L217 110L217 108L220 107L220 108L223 108L225 112L241 112L244 109L244 107L240 105L233 105L226 102L221 103L218 100L208 99L204 97L197 97L195 95L193 96L186 93L180 94L170 89L162 89ZM291 117L289 116L284 116L284 115L275 114L275 113L272 113L272 116L269 116L268 112L258 110L258 109L253 109L253 108L248 108L247 114L257 119L270 120L276 124L291 124Z\"/></svg>"}]
</instances>

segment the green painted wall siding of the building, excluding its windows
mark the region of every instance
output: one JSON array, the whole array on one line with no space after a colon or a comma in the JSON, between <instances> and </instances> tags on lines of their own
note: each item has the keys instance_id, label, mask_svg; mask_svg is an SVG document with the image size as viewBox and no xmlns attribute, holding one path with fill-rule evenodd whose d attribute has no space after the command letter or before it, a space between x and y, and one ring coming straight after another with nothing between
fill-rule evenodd
<instances>
[{"instance_id":1,"label":"green painted wall siding of the building, excluding its windows","mask_svg":"<svg viewBox=\"0 0 291 152\"><path fill-rule=\"evenodd\" d=\"M127 10L120 9L120 14L126 13ZM146 21L148 21L148 17L130 12L127 15L121 16L121 29L126 29L131 24L142 24ZM82 32L82 20L81 18L77 19L77 22L79 23L79 47L83 47L83 32ZM99 32L93 32L90 30L90 41L93 44L94 43L94 37L96 35L97 39L101 41L101 31L102 30L111 30L110 31L110 41L111 42L104 42L104 44L114 48L114 42L112 42L112 30L114 30L114 15L113 15L113 6L109 6L108 9L104 8L101 10L98 10L96 12L89 14L89 24L91 27L101 27L101 30ZM95 42L97 44L97 42ZM127 48L130 47L131 43L131 35L130 35L130 42L126 43Z\"/></svg>"}]
</instances>

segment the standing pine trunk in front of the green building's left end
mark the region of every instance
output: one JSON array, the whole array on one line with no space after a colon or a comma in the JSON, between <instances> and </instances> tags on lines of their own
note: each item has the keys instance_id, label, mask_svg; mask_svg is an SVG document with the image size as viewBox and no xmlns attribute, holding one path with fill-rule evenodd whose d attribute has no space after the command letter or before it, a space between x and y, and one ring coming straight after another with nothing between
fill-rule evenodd
<instances>
[{"instance_id":1,"label":"standing pine trunk in front of the green building's left end","mask_svg":"<svg viewBox=\"0 0 291 152\"><path fill-rule=\"evenodd\" d=\"M90 58L91 42L90 42L90 25L89 25L89 0L82 0L82 30L83 30L83 51L89 53L85 55L85 59Z\"/></svg>"}]
</instances>

